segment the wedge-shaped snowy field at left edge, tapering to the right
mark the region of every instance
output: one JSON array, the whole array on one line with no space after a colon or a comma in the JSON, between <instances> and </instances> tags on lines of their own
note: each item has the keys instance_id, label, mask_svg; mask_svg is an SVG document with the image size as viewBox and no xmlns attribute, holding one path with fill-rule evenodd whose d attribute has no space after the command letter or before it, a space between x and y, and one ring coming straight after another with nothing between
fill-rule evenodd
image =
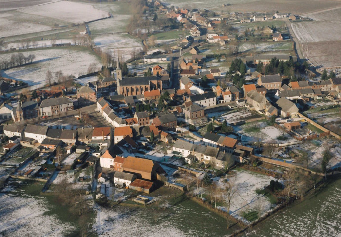
<instances>
[{"instance_id":1,"label":"wedge-shaped snowy field at left edge, tapering to the right","mask_svg":"<svg viewBox=\"0 0 341 237\"><path fill-rule=\"evenodd\" d=\"M52 30L52 27L40 23L17 22L0 16L0 37Z\"/></svg>"}]
</instances>

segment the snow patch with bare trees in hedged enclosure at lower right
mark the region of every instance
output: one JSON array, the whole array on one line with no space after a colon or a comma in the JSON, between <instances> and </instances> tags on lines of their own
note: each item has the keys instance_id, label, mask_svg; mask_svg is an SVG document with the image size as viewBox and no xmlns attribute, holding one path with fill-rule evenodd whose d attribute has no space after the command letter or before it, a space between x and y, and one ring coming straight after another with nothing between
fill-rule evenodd
<instances>
[{"instance_id":1,"label":"snow patch with bare trees in hedged enclosure at lower right","mask_svg":"<svg viewBox=\"0 0 341 237\"><path fill-rule=\"evenodd\" d=\"M242 213L254 210L255 205L259 205L260 203L262 203L262 214L269 211L273 207L270 200L262 194L257 194L256 190L264 189L265 186L270 184L272 179L276 180L273 177L250 171L235 171L233 177L228 177L227 179L228 182L234 183L234 189L237 189L236 195L231 200L229 214L237 219L244 220ZM220 178L215 182L223 190L227 187L225 178ZM222 198L227 201L227 196L224 192L222 193ZM226 207L220 207L220 209L227 211Z\"/></svg>"}]
</instances>

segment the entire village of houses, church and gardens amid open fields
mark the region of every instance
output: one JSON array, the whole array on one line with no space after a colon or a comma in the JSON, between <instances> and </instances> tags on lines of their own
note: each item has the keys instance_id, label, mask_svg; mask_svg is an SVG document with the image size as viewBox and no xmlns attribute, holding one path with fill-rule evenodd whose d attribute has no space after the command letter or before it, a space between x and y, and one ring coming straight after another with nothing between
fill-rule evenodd
<instances>
[{"instance_id":1,"label":"entire village of houses, church and gardens amid open fields","mask_svg":"<svg viewBox=\"0 0 341 237\"><path fill-rule=\"evenodd\" d=\"M308 18L223 17L157 0L144 14L184 36L172 46L147 39L129 60L103 52L100 70L47 73L49 85L29 93L30 84L2 75L1 187L36 180L53 193L68 185L109 207L165 209L186 197L224 215L229 229L257 223L340 170L340 69L313 70L294 46L254 50L293 45L288 28L267 21ZM230 27L253 22L265 25L243 35ZM238 42L249 43L246 53ZM23 62L13 60L1 68Z\"/></svg>"}]
</instances>

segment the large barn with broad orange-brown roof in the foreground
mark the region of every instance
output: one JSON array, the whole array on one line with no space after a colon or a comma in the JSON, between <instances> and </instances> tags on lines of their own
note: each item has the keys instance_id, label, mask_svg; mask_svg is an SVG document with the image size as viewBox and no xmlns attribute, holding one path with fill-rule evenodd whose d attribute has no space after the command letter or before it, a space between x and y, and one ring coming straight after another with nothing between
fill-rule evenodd
<instances>
[{"instance_id":1,"label":"large barn with broad orange-brown roof in the foreground","mask_svg":"<svg viewBox=\"0 0 341 237\"><path fill-rule=\"evenodd\" d=\"M124 172L132 173L139 179L156 181L157 173L161 173L162 168L154 161L137 157L127 157L122 164Z\"/></svg>"}]
</instances>

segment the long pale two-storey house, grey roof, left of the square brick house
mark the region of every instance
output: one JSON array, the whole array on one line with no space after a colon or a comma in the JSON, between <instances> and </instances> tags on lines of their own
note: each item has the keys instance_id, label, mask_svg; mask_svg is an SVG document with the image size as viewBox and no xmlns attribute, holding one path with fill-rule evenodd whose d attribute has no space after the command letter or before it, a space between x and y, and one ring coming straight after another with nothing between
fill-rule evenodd
<instances>
[{"instance_id":1,"label":"long pale two-storey house, grey roof, left of the square brick house","mask_svg":"<svg viewBox=\"0 0 341 237\"><path fill-rule=\"evenodd\" d=\"M74 110L74 104L65 97L45 99L40 104L40 116L60 115L71 110Z\"/></svg>"}]
</instances>

